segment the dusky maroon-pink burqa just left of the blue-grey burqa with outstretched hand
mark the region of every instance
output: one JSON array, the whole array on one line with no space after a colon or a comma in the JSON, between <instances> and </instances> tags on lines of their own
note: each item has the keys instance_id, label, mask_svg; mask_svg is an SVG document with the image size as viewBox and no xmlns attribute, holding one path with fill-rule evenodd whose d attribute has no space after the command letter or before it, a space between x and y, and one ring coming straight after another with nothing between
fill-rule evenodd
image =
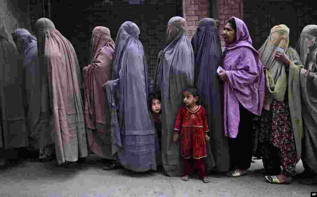
<instances>
[{"instance_id":1,"label":"dusky maroon-pink burqa just left of the blue-grey burqa with outstretched hand","mask_svg":"<svg viewBox=\"0 0 317 197\"><path fill-rule=\"evenodd\" d=\"M95 27L91 38L90 64L83 69L85 122L89 150L101 157L112 155L111 114L103 84L111 80L114 42L110 30Z\"/></svg>"}]
</instances>

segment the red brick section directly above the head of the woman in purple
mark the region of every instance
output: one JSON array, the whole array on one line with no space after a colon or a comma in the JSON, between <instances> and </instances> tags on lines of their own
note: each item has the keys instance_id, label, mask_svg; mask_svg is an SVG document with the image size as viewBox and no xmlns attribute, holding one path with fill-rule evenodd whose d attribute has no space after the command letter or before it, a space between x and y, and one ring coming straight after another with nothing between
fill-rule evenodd
<instances>
[{"instance_id":1,"label":"red brick section directly above the head of the woman in purple","mask_svg":"<svg viewBox=\"0 0 317 197\"><path fill-rule=\"evenodd\" d=\"M225 45L222 37L225 22L231 17L236 16L243 20L243 2L242 0L218 0L218 19L219 19L219 36L221 46Z\"/></svg>"}]
</instances>

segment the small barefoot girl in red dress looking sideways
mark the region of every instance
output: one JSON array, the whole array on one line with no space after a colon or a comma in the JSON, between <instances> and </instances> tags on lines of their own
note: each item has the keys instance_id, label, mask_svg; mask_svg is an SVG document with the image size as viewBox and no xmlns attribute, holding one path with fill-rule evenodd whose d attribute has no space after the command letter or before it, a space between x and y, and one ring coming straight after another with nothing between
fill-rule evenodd
<instances>
[{"instance_id":1,"label":"small barefoot girl in red dress looking sideways","mask_svg":"<svg viewBox=\"0 0 317 197\"><path fill-rule=\"evenodd\" d=\"M207 157L206 141L209 141L206 112L198 105L198 89L189 87L184 90L184 105L178 110L174 127L173 140L176 143L180 134L181 155L184 157L183 181L188 181L193 173L193 166L199 169L199 178L204 183L210 182L204 164ZM192 162L191 162L192 160Z\"/></svg>"}]
</instances>

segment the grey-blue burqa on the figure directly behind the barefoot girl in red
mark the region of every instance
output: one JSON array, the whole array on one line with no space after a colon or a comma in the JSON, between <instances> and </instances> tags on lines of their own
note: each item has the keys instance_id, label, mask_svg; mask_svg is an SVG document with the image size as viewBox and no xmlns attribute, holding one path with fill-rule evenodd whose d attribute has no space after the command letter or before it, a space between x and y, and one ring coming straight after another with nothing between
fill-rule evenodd
<instances>
[{"instance_id":1,"label":"grey-blue burqa on the figure directly behind the barefoot girl in red","mask_svg":"<svg viewBox=\"0 0 317 197\"><path fill-rule=\"evenodd\" d=\"M183 174L180 143L174 143L172 136L178 109L183 104L183 90L194 85L194 52L186 26L186 20L179 16L168 22L166 44L159 53L154 79L154 89L162 95L161 152L168 176Z\"/></svg>"}]
</instances>

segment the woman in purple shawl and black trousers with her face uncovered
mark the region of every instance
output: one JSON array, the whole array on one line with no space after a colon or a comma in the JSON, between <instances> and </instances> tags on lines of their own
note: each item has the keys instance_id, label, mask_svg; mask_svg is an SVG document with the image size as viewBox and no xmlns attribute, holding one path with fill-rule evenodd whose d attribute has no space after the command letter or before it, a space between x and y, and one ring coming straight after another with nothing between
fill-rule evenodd
<instances>
[{"instance_id":1,"label":"woman in purple shawl and black trousers with her face uncovered","mask_svg":"<svg viewBox=\"0 0 317 197\"><path fill-rule=\"evenodd\" d=\"M226 175L247 173L252 159L254 115L261 115L264 101L264 73L258 52L246 24L231 17L224 29L226 48L223 52L224 132L229 136L232 170Z\"/></svg>"}]
</instances>

